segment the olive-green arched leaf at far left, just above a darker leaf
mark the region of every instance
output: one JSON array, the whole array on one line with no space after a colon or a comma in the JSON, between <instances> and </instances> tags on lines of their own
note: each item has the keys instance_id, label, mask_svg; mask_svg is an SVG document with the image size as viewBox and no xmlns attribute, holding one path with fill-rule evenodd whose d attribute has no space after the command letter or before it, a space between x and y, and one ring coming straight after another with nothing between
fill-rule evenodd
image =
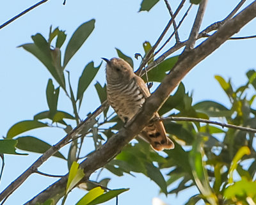
<instances>
[{"instance_id":1,"label":"olive-green arched leaf at far left, just above a darker leaf","mask_svg":"<svg viewBox=\"0 0 256 205\"><path fill-rule=\"evenodd\" d=\"M26 132L28 130L33 130L35 128L42 128L45 126L47 125L35 120L20 121L19 123L16 123L8 130L6 137L8 139L12 139L13 137L19 135L20 133Z\"/></svg>"}]
</instances>

